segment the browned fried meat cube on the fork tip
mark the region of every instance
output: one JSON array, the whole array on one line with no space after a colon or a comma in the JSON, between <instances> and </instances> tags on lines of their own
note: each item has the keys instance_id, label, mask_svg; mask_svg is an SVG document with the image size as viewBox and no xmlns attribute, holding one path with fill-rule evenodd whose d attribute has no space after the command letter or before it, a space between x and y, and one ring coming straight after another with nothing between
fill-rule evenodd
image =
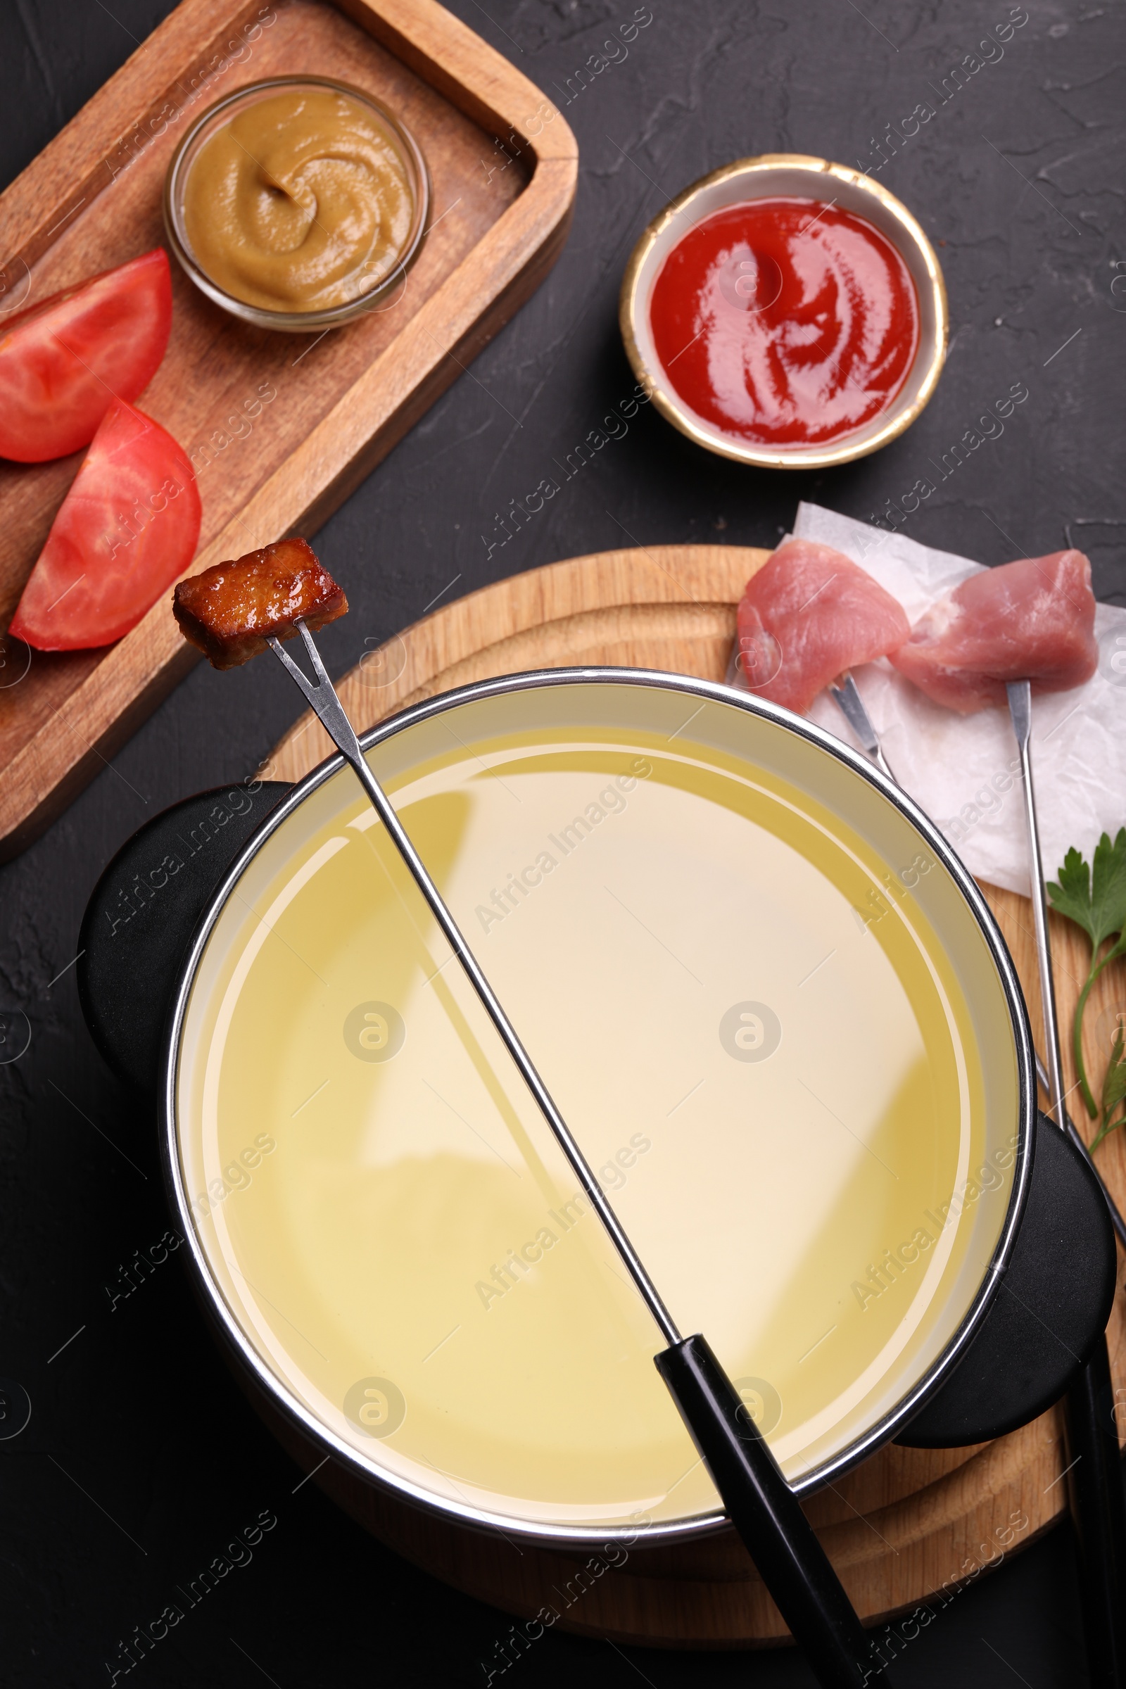
<instances>
[{"instance_id":1,"label":"browned fried meat cube on the fork tip","mask_svg":"<svg viewBox=\"0 0 1126 1689\"><path fill-rule=\"evenodd\" d=\"M280 539L181 581L172 615L213 669L236 669L270 635L292 638L299 616L316 633L348 615L348 600L307 540Z\"/></svg>"}]
</instances>

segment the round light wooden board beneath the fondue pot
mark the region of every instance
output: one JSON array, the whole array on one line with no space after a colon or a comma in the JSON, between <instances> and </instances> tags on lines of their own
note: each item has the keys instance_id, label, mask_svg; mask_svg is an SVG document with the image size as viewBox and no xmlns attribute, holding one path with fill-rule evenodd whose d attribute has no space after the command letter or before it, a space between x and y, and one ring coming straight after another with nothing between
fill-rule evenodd
<instances>
[{"instance_id":1,"label":"round light wooden board beneath the fondue pot","mask_svg":"<svg viewBox=\"0 0 1126 1689\"><path fill-rule=\"evenodd\" d=\"M734 605L768 556L734 546L653 546L532 569L395 635L344 677L339 694L363 730L436 692L525 669L613 664L719 681L734 637ZM306 714L273 752L270 777L297 780L331 748L321 725ZM1031 907L996 887L984 892L1016 961L1042 1044ZM1052 944L1062 1024L1069 1025L1087 971L1084 941L1053 915ZM1111 1005L1116 988L1119 998L1126 997L1121 971L1118 980L1107 980L1112 971L1102 976L1104 1003L1096 1005L1091 1022ZM1099 1057L1089 1054L1101 1074ZM1069 1056L1065 1061L1070 1069ZM1067 1073L1065 1084L1074 1084L1074 1073ZM1123 1133L1102 1145L1099 1164L1126 1206ZM1107 1341L1114 1383L1126 1393L1121 1294ZM1067 1505L1067 1486L1058 1481L1064 1466L1062 1417L1052 1409L1021 1431L977 1447L890 1444L812 1496L807 1512L858 1611L876 1620L934 1603L944 1586L940 1599L947 1601L986 1562L1031 1542ZM405 1557L510 1613L533 1616L540 1606L554 1606L564 1613L560 1625L567 1630L650 1647L755 1647L787 1637L733 1532L675 1549L638 1542L613 1578L599 1576L581 1601L564 1610L564 1591L574 1588L586 1556L527 1545L517 1551L506 1540L457 1530L380 1491L358 1491L333 1463L317 1481Z\"/></svg>"}]
</instances>

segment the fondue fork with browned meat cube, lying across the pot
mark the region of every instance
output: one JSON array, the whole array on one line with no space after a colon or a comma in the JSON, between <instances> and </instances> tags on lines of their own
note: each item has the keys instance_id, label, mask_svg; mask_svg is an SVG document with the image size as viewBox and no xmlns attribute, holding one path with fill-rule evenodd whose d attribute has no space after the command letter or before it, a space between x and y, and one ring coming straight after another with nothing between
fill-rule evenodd
<instances>
[{"instance_id":1,"label":"fondue fork with browned meat cube, lying across the pot","mask_svg":"<svg viewBox=\"0 0 1126 1689\"><path fill-rule=\"evenodd\" d=\"M805 549L826 552L824 546ZM836 552L826 554L836 556ZM844 557L839 561L847 569L854 568ZM886 593L883 596L886 598ZM856 1616L814 1527L748 1414L743 1397L704 1336L701 1333L690 1338L680 1336L657 1285L623 1231L589 1162L363 753L306 622L309 616L316 627L343 616L348 610L343 589L304 540L282 540L279 546L252 551L246 557L221 562L182 581L176 588L174 610L184 637L204 650L216 669L246 662L268 644L351 765L662 1333L667 1348L653 1356L657 1371L793 1640L804 1648L817 1681L826 1689L863 1689L876 1670L871 1638ZM907 622L903 630L907 632ZM282 640L292 638L294 633L302 637L314 681L309 681L282 649Z\"/></svg>"}]
</instances>

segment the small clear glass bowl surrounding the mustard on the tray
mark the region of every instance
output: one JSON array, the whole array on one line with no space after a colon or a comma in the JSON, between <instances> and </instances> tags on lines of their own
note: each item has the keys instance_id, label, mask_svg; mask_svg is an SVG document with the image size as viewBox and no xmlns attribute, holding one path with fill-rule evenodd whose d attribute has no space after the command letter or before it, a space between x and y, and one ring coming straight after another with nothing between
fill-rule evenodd
<instances>
[{"instance_id":1,"label":"small clear glass bowl surrounding the mustard on the tray","mask_svg":"<svg viewBox=\"0 0 1126 1689\"><path fill-rule=\"evenodd\" d=\"M245 299L238 299L235 294L230 294L203 269L192 252L187 230L184 226L184 187L187 174L203 145L218 128L238 117L240 111L245 111L260 100L268 100L282 90L294 88L329 88L333 93L348 95L349 100L366 106L395 144L414 196L410 230L398 255L398 262L390 274L358 299L349 299L341 306L331 306L324 311L265 311L260 306L248 304ZM425 169L425 159L422 157L422 150L410 130L405 128L397 117L392 117L392 113L382 106L378 100L366 95L363 88L353 88L349 83L338 83L329 76L268 76L258 83L248 83L245 88L236 88L235 93L228 95L225 100L208 106L203 117L192 123L172 154L172 162L169 164L169 172L164 179L164 226L169 236L169 247L196 287L206 294L208 299L213 299L214 304L230 311L231 316L241 318L243 323L253 323L257 328L282 329L290 334L307 334L311 329L339 328L343 323L351 323L353 318L363 316L365 311L371 311L371 307L393 292L393 289L400 287L403 275L419 255L427 226L429 208L430 181Z\"/></svg>"}]
</instances>

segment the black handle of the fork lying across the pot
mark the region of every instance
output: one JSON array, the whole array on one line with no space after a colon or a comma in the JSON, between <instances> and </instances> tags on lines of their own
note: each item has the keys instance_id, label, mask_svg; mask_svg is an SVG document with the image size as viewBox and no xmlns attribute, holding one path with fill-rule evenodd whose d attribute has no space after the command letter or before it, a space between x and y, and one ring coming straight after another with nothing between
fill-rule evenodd
<instances>
[{"instance_id":1,"label":"black handle of the fork lying across the pot","mask_svg":"<svg viewBox=\"0 0 1126 1689\"><path fill-rule=\"evenodd\" d=\"M817 1682L822 1689L888 1684L829 1556L707 1341L684 1338L653 1360Z\"/></svg>"}]
</instances>

